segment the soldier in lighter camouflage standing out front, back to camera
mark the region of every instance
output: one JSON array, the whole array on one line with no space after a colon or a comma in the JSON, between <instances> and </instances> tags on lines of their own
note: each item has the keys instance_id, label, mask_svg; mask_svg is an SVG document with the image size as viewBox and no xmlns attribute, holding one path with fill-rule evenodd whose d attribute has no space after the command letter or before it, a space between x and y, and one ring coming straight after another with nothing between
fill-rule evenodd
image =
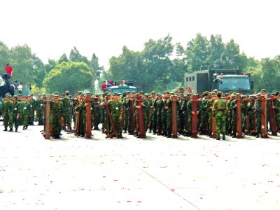
<instances>
[{"instance_id":1,"label":"soldier in lighter camouflage standing out front, back to camera","mask_svg":"<svg viewBox=\"0 0 280 210\"><path fill-rule=\"evenodd\" d=\"M220 134L223 134L223 140L225 140L225 118L228 114L228 106L225 99L222 99L222 92L217 93L218 99L215 100L213 105L213 115L216 118L216 133L217 140L220 140Z\"/></svg>"}]
</instances>

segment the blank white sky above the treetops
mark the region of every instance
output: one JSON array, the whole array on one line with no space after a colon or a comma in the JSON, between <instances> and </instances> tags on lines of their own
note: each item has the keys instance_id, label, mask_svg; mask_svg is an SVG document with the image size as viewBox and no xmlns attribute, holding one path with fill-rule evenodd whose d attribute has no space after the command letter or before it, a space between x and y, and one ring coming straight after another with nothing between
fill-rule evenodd
<instances>
[{"instance_id":1,"label":"blank white sky above the treetops","mask_svg":"<svg viewBox=\"0 0 280 210\"><path fill-rule=\"evenodd\" d=\"M9 0L0 8L0 41L26 43L45 63L76 46L108 68L123 45L141 51L167 34L184 47L197 33L221 34L250 57L280 54L279 0Z\"/></svg>"}]
</instances>

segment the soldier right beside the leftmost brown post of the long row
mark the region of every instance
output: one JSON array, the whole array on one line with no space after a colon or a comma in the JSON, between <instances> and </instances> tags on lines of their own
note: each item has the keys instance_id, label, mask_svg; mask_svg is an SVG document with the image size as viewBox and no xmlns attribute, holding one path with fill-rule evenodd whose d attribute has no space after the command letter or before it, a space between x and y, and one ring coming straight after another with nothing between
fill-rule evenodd
<instances>
[{"instance_id":1,"label":"soldier right beside the leftmost brown post of the long row","mask_svg":"<svg viewBox=\"0 0 280 210\"><path fill-rule=\"evenodd\" d=\"M63 104L56 94L54 100L50 102L50 124L52 125L52 137L60 139L61 125L64 116Z\"/></svg>"}]
</instances>

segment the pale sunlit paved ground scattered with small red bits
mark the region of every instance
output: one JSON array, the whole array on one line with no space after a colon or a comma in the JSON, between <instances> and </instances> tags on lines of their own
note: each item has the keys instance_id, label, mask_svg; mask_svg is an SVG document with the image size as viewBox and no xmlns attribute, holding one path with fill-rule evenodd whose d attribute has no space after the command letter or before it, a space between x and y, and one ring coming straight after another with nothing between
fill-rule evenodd
<instances>
[{"instance_id":1,"label":"pale sunlit paved ground scattered with small red bits","mask_svg":"<svg viewBox=\"0 0 280 210\"><path fill-rule=\"evenodd\" d=\"M0 209L280 209L280 138L93 139L0 127ZM203 138L203 139L202 139Z\"/></svg>"}]
</instances>

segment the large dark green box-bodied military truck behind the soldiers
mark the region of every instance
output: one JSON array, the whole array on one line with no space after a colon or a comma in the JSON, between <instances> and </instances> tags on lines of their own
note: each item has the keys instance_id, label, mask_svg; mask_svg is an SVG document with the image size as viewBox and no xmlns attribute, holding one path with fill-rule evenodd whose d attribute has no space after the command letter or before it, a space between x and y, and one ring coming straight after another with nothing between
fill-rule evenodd
<instances>
[{"instance_id":1,"label":"large dark green box-bodied military truck behind the soldiers","mask_svg":"<svg viewBox=\"0 0 280 210\"><path fill-rule=\"evenodd\" d=\"M185 73L185 87L190 87L197 93L211 90L253 93L253 81L249 73L241 73L240 69L208 69Z\"/></svg>"}]
</instances>

